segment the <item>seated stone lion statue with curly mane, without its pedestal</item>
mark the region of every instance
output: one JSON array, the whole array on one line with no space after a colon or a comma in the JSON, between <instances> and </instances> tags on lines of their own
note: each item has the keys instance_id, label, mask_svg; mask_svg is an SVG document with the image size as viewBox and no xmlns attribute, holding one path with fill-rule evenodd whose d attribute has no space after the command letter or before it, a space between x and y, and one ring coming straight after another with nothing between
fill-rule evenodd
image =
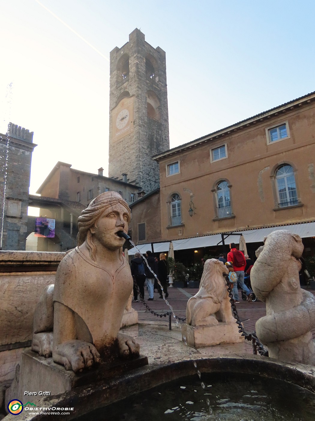
<instances>
[{"instance_id":1,"label":"seated stone lion statue with curly mane, without its pedestal","mask_svg":"<svg viewBox=\"0 0 315 421\"><path fill-rule=\"evenodd\" d=\"M221 261L209 259L205 262L199 291L187 302L188 325L210 326L235 321L226 288L226 275L228 269Z\"/></svg>"}]
</instances>

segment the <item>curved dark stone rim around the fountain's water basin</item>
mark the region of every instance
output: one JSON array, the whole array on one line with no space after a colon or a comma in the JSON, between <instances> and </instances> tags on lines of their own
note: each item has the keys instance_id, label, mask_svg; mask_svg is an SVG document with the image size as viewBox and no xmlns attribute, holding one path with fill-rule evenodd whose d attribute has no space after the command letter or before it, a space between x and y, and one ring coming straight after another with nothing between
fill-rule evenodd
<instances>
[{"instance_id":1,"label":"curved dark stone rim around the fountain's water basin","mask_svg":"<svg viewBox=\"0 0 315 421\"><path fill-rule=\"evenodd\" d=\"M197 376L194 361L197 362L197 368L201 373L245 373L277 378L315 393L315 367L311 365L286 363L260 355L252 355L252 357L222 355L147 365L131 370L119 378L109 381L102 380L94 384L76 387L69 392L42 398L38 403L38 408L74 407L73 414L59 415L58 420L75 419L92 410L118 402L132 394L152 389L160 384L186 376ZM97 406L95 406L95 402L97 402ZM51 416L45 415L33 416L26 413L21 415L23 421L51 419ZM16 420L15 416L11 414L5 419Z\"/></svg>"}]
</instances>

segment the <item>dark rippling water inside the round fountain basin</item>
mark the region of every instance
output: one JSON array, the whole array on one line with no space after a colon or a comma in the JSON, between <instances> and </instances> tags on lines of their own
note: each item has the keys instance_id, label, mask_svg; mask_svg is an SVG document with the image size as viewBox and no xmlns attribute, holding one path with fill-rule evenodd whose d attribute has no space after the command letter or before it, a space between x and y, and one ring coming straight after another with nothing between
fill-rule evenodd
<instances>
[{"instance_id":1,"label":"dark rippling water inside the round fountain basin","mask_svg":"<svg viewBox=\"0 0 315 421\"><path fill-rule=\"evenodd\" d=\"M313 421L314 394L278 379L243 373L204 373L163 384L76 421ZM209 414L205 399L210 400Z\"/></svg>"}]
</instances>

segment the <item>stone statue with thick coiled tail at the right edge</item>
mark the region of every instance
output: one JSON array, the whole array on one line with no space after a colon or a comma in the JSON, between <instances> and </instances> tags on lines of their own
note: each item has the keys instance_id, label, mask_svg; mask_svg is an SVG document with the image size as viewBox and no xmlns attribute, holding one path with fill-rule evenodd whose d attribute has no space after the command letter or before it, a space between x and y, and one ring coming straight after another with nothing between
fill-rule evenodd
<instances>
[{"instance_id":1,"label":"stone statue with thick coiled tail at the right edge","mask_svg":"<svg viewBox=\"0 0 315 421\"><path fill-rule=\"evenodd\" d=\"M256 251L250 277L257 298L266 303L267 315L257 320L256 332L269 357L314 365L315 297L300 288L302 252L297 234L274 231Z\"/></svg>"}]
</instances>

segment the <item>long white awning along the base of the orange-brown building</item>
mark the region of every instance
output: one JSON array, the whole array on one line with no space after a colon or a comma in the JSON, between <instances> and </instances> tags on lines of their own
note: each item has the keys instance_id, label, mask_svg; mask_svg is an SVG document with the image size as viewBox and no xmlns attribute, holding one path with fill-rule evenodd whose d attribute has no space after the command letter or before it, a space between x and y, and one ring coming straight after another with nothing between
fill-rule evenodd
<instances>
[{"instance_id":1,"label":"long white awning along the base of the orange-brown building","mask_svg":"<svg viewBox=\"0 0 315 421\"><path fill-rule=\"evenodd\" d=\"M306 237L315 237L315 222L307 222L305 224L294 224L286 226L274 226L272 228L258 228L258 229L247 229L245 231L240 231L229 237L226 237L225 243L230 242L239 243L238 235L243 234L246 243L250 242L263 242L264 237L266 237L270 232L277 231L279 229L286 229L294 234L298 234L301 238ZM205 235L204 237L194 237L186 238L185 240L173 240L174 250L187 250L202 248L202 247L211 247L218 245L222 240L221 234ZM154 253L166 253L168 252L169 242L157 242L153 244ZM222 245L222 242L220 243ZM137 246L141 253L145 253L147 250L152 250L151 243L148 244L139 244ZM136 248L131 248L128 251L129 255L134 255L136 253Z\"/></svg>"}]
</instances>

